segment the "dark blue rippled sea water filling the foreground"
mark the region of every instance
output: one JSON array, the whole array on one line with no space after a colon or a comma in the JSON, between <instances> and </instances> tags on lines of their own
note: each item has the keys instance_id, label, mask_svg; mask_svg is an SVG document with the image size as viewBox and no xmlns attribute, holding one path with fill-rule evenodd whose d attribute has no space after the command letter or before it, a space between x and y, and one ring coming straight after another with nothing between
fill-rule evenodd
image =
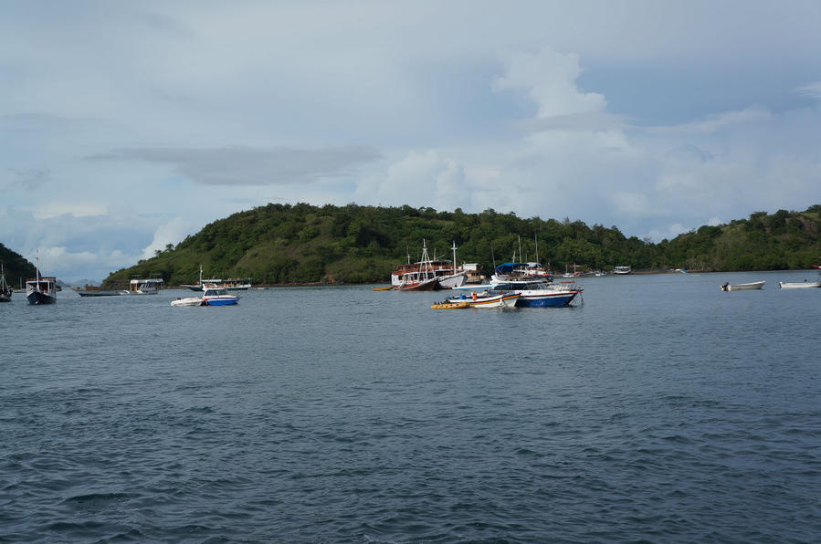
<instances>
[{"instance_id":1,"label":"dark blue rippled sea water filling the foreground","mask_svg":"<svg viewBox=\"0 0 821 544\"><path fill-rule=\"evenodd\" d=\"M0 305L0 541L816 542L812 273ZM719 286L766 279L762 291Z\"/></svg>"}]
</instances>

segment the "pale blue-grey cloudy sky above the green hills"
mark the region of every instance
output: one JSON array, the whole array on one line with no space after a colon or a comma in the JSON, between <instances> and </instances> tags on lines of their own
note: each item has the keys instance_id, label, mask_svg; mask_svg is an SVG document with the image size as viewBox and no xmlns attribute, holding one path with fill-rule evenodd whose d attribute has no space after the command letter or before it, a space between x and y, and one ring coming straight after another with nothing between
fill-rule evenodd
<instances>
[{"instance_id":1,"label":"pale blue-grey cloudy sky above the green hills","mask_svg":"<svg viewBox=\"0 0 821 544\"><path fill-rule=\"evenodd\" d=\"M821 204L821 3L0 0L0 242L100 281L268 203L655 242Z\"/></svg>"}]
</instances>

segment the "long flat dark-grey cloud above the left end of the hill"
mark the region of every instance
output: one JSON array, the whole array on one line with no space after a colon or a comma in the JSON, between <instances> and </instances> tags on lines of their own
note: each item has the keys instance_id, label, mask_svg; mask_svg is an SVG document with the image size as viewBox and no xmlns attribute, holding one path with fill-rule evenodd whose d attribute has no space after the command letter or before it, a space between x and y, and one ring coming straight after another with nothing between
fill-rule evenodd
<instances>
[{"instance_id":1,"label":"long flat dark-grey cloud above the left end of the hill","mask_svg":"<svg viewBox=\"0 0 821 544\"><path fill-rule=\"evenodd\" d=\"M144 161L171 164L194 183L205 185L278 185L312 183L353 173L382 154L369 147L317 150L287 147L211 149L128 148L89 157L96 161Z\"/></svg>"}]
</instances>

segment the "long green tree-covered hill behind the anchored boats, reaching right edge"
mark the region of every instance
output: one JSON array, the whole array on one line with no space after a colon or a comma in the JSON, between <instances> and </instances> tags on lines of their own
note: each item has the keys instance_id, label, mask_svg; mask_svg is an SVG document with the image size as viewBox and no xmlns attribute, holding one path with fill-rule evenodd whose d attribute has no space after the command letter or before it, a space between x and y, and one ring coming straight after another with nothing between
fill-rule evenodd
<instances>
[{"instance_id":1,"label":"long green tree-covered hill behind the anchored boats, reaching right edge","mask_svg":"<svg viewBox=\"0 0 821 544\"><path fill-rule=\"evenodd\" d=\"M521 218L492 209L480 214L432 208L268 204L206 225L177 246L121 269L104 285L129 277L161 276L169 285L205 277L253 277L268 284L385 282L407 256L418 260L422 241L431 256L459 262L540 260L563 271L629 265L634 269L753 270L809 268L821 261L821 205L804 212L754 213L729 225L702 226L653 244L615 226ZM538 242L538 247L536 246ZM521 246L521 252L520 252Z\"/></svg>"}]
</instances>

